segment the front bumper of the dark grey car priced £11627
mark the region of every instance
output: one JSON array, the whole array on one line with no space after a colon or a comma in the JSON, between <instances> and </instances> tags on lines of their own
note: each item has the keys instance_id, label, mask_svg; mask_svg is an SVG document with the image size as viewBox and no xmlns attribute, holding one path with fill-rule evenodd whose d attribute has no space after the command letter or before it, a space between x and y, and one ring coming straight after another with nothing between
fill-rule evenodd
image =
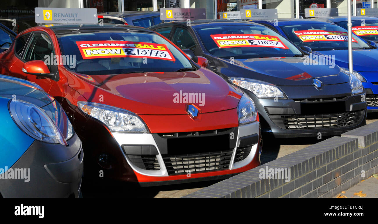
<instances>
[{"instance_id":1,"label":"front bumper of the dark grey car priced \u00a311627","mask_svg":"<svg viewBox=\"0 0 378 224\"><path fill-rule=\"evenodd\" d=\"M305 95L305 87L303 88ZM314 87L312 87L315 89ZM359 95L259 99L248 92L260 115L262 132L278 138L338 135L366 124L366 101Z\"/></svg>"}]
</instances>

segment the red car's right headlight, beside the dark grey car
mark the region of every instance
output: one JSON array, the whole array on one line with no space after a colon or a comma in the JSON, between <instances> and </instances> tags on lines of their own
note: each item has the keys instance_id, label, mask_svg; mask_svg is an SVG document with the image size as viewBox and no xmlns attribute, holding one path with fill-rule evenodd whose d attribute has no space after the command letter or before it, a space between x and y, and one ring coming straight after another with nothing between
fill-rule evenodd
<instances>
[{"instance_id":1,"label":"red car's right headlight, beside the dark grey car","mask_svg":"<svg viewBox=\"0 0 378 224\"><path fill-rule=\"evenodd\" d=\"M239 124L248 124L256 121L257 110L251 97L244 93L237 106Z\"/></svg>"}]
</instances>

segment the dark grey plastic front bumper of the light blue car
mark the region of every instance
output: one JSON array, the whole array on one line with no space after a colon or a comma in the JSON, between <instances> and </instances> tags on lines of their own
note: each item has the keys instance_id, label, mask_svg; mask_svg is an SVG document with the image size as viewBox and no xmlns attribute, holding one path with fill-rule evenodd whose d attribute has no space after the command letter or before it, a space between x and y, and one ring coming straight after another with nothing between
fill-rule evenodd
<instances>
[{"instance_id":1,"label":"dark grey plastic front bumper of the light blue car","mask_svg":"<svg viewBox=\"0 0 378 224\"><path fill-rule=\"evenodd\" d=\"M0 192L5 198L79 197L84 153L76 134L68 146L35 140L11 167L30 169L29 181L1 179Z\"/></svg>"}]
</instances>

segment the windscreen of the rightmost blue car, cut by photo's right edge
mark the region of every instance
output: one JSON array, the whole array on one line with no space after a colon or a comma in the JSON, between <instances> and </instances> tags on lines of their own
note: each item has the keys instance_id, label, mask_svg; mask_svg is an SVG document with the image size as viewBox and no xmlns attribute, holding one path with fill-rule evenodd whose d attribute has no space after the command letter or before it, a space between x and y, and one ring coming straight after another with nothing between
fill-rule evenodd
<instances>
[{"instance_id":1,"label":"windscreen of the rightmost blue car, cut by photo's right edge","mask_svg":"<svg viewBox=\"0 0 378 224\"><path fill-rule=\"evenodd\" d=\"M348 29L348 21L335 23L345 30ZM378 19L352 20L352 31L361 38L378 42Z\"/></svg>"}]
</instances>

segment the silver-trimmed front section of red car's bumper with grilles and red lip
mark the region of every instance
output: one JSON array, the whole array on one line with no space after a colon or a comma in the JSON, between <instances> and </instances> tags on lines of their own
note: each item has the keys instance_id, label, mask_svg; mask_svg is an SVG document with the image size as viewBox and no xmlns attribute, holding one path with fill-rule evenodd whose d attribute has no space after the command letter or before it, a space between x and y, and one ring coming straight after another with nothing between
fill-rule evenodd
<instances>
[{"instance_id":1,"label":"silver-trimmed front section of red car's bumper with grilles and red lip","mask_svg":"<svg viewBox=\"0 0 378 224\"><path fill-rule=\"evenodd\" d=\"M112 134L143 186L218 179L260 165L258 121L190 133Z\"/></svg>"}]
</instances>

